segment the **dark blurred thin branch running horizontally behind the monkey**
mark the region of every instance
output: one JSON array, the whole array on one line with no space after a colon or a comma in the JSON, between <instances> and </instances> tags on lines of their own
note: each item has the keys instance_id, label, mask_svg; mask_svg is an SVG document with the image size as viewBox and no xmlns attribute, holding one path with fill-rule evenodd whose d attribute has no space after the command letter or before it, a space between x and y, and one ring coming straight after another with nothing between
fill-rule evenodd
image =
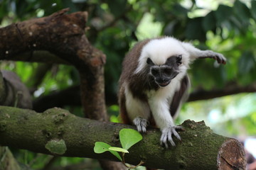
<instances>
[{"instance_id":1,"label":"dark blurred thin branch running horizontally behind the monkey","mask_svg":"<svg viewBox=\"0 0 256 170\"><path fill-rule=\"evenodd\" d=\"M188 102L253 92L256 92L256 84L250 84L248 86L239 86L238 84L233 84L233 86L227 86L218 90L196 90L190 94ZM63 100L63 98L65 98L65 100ZM80 89L79 86L72 86L62 91L53 91L48 96L41 96L40 98L36 98L36 100L33 101L33 108L35 111L41 112L53 107L80 106L81 102L76 100L76 98L80 98ZM117 95L106 94L106 103L108 106L117 104Z\"/></svg>"}]
</instances>

